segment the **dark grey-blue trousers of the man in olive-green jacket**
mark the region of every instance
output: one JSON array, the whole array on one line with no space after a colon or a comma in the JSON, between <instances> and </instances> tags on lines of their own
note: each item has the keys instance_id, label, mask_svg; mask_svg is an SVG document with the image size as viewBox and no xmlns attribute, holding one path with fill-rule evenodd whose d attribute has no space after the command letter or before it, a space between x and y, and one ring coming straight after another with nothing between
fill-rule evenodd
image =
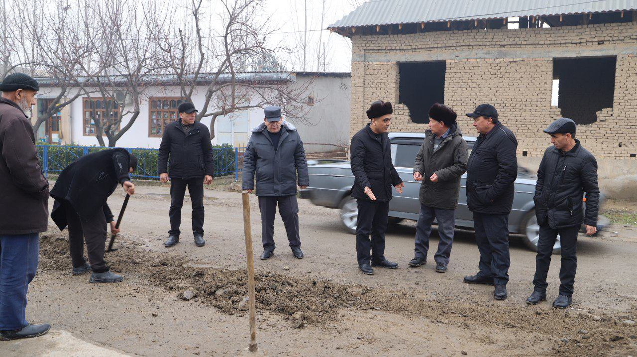
<instances>
[{"instance_id":1,"label":"dark grey-blue trousers of the man in olive-green jacket","mask_svg":"<svg viewBox=\"0 0 637 357\"><path fill-rule=\"evenodd\" d=\"M454 243L455 210L445 210L420 204L420 216L416 225L415 256L427 259L429 251L429 236L434 219L438 221L438 251L434 256L436 263L449 264L451 246Z\"/></svg>"}]
</instances>

